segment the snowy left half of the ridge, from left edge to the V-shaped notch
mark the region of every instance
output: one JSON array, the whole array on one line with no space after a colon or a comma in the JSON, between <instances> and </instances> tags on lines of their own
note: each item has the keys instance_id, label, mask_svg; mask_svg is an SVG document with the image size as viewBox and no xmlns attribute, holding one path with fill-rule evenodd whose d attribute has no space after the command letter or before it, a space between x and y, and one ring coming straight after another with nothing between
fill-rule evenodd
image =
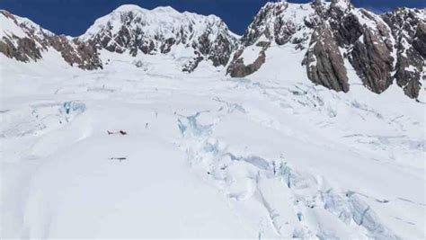
<instances>
[{"instance_id":1,"label":"snowy left half of the ridge, from left edge to the V-shaped notch","mask_svg":"<svg viewBox=\"0 0 426 240\"><path fill-rule=\"evenodd\" d=\"M226 66L237 46L236 35L217 16L178 13L171 7L146 10L138 5L121 5L77 38L58 36L4 10L1 17L0 52L7 57L37 60L52 48L70 65L88 70L107 64L100 56L102 49L133 57L179 49L176 58L187 58L182 71L192 72L203 60L215 67Z\"/></svg>"}]
</instances>

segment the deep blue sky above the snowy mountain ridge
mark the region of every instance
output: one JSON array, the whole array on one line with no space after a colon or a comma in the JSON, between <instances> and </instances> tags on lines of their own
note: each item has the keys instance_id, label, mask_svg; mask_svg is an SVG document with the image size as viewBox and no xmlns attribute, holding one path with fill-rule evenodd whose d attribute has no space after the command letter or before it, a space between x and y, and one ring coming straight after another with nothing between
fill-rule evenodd
<instances>
[{"instance_id":1,"label":"deep blue sky above the snowy mountain ridge","mask_svg":"<svg viewBox=\"0 0 426 240\"><path fill-rule=\"evenodd\" d=\"M242 34L266 0L1 0L0 9L25 16L43 28L58 34L78 36L98 17L111 13L121 4L138 4L152 9L159 5L171 5L176 10L221 17L231 31ZM288 0L307 3L310 0ZM397 6L426 7L426 0L352 0L359 7L376 13L386 12Z\"/></svg>"}]
</instances>

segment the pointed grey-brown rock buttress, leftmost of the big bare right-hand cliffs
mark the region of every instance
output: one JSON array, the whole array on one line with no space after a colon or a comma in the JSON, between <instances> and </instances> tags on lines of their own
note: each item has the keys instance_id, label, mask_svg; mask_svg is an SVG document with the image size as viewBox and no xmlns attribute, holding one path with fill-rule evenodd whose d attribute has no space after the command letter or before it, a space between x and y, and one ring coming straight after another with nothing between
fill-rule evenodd
<instances>
[{"instance_id":1,"label":"pointed grey-brown rock buttress, leftmost of the big bare right-hand cliffs","mask_svg":"<svg viewBox=\"0 0 426 240\"><path fill-rule=\"evenodd\" d=\"M310 45L304 62L308 78L315 84L348 92L346 68L332 32L327 28L318 28L312 35Z\"/></svg>"}]
</instances>

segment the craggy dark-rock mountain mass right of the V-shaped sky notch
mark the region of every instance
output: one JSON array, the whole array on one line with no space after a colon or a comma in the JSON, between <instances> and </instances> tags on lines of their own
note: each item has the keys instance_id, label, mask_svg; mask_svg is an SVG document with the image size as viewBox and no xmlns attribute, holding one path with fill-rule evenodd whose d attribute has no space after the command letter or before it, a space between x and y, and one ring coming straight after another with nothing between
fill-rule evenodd
<instances>
[{"instance_id":1,"label":"craggy dark-rock mountain mass right of the V-shaped sky notch","mask_svg":"<svg viewBox=\"0 0 426 240\"><path fill-rule=\"evenodd\" d=\"M238 55L265 37L271 47L305 51L302 64L315 84L348 92L351 67L370 91L383 93L395 82L415 99L425 80L425 15L424 9L408 8L380 15L356 8L349 0L268 3L245 31L228 73L237 69L244 74L236 76L247 76L260 69L244 71L249 66L241 64ZM280 61L267 58L264 64L274 60Z\"/></svg>"}]
</instances>

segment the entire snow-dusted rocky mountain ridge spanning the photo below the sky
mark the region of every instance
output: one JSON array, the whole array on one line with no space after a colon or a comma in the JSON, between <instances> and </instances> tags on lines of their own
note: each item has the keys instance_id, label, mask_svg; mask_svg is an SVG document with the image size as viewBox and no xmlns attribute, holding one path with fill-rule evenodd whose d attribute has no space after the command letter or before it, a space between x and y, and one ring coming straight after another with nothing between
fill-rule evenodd
<instances>
[{"instance_id":1,"label":"entire snow-dusted rocky mountain ridge spanning the photo below the sky","mask_svg":"<svg viewBox=\"0 0 426 240\"><path fill-rule=\"evenodd\" d=\"M2 33L0 52L24 62L42 58L41 52L51 47L69 65L93 70L106 64L99 56L101 49L136 57L167 54L182 46L191 52L182 71L191 73L201 61L209 61L214 67L226 67L231 77L244 77L270 61L280 61L266 60L271 45L291 45L305 51L300 64L306 66L307 78L338 92L350 91L351 67L374 93L382 93L395 83L407 96L417 99L426 79L424 9L398 8L375 14L348 0L270 2L254 16L241 38L215 15L180 13L170 6L146 10L135 4L121 5L75 38L58 36L35 23L25 28L16 21L22 18L4 10L0 15L15 21L27 34L20 38ZM259 45L258 56L247 62L241 55L254 44Z\"/></svg>"}]
</instances>

